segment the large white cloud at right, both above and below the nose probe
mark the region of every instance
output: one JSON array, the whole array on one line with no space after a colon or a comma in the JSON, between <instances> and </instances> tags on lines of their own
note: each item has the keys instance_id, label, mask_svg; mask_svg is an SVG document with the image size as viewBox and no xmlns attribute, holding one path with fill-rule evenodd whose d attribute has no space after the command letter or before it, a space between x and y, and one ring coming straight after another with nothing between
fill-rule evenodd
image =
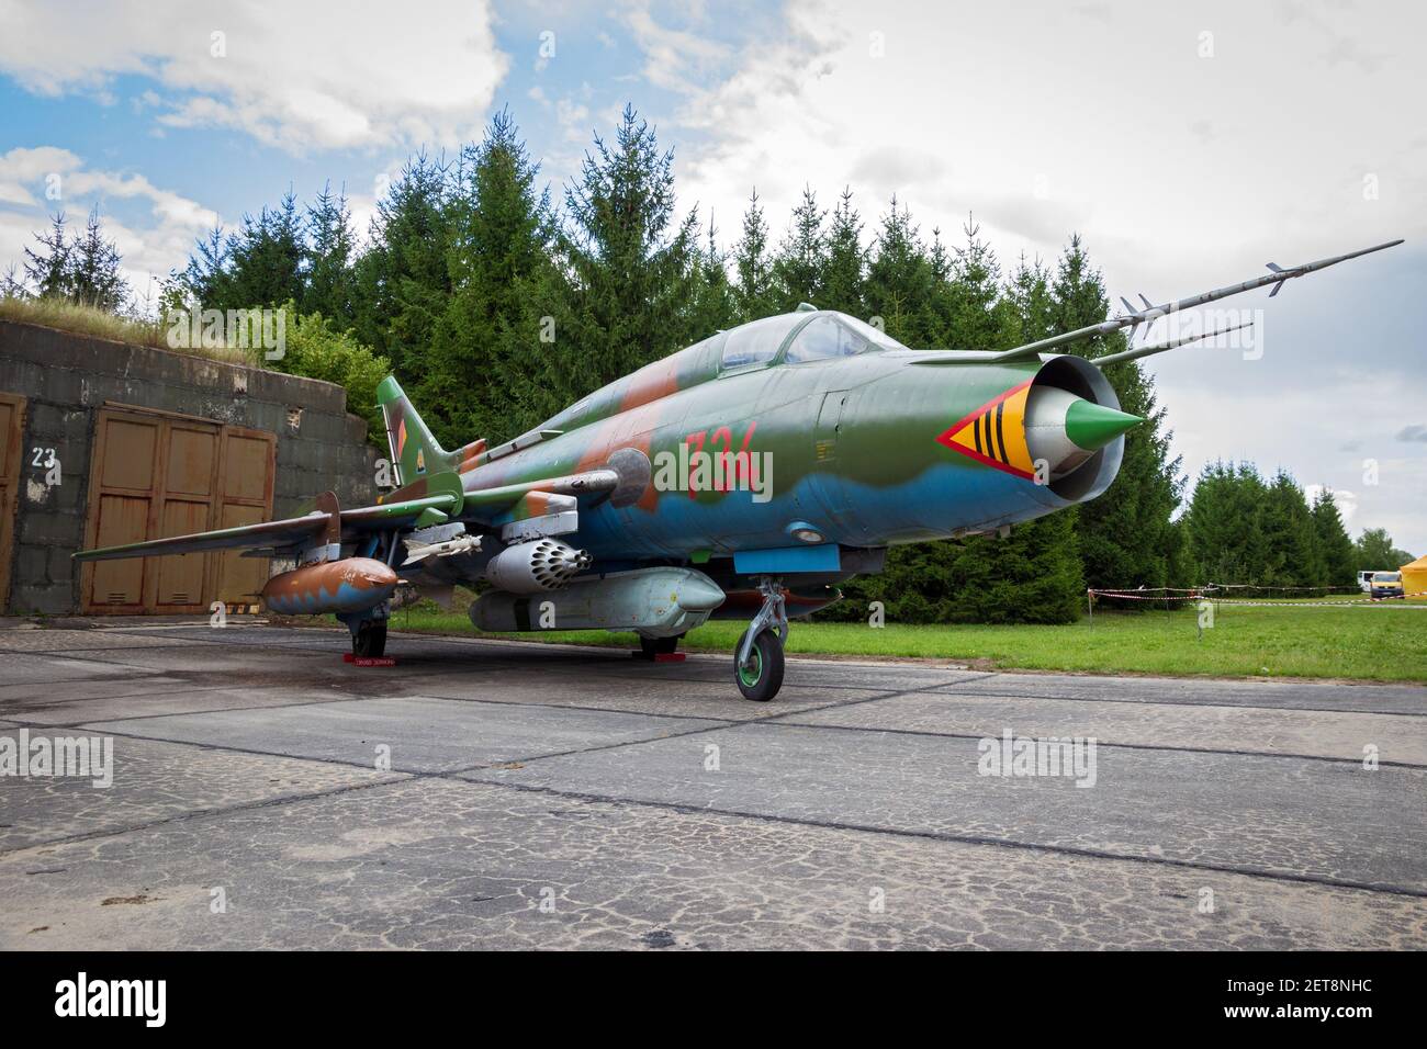
<instances>
[{"instance_id":1,"label":"large white cloud at right, both above and below the nose probe","mask_svg":"<svg viewBox=\"0 0 1427 1049\"><path fill-rule=\"evenodd\" d=\"M778 237L805 181L825 206L850 184L869 233L895 193L923 237L939 225L959 240L975 211L1003 263L1053 261L1079 231L1112 301L1193 294L1270 260L1421 243L1427 66L1416 41L1427 9L1214 0L1192 16L1127 3L1086 14L789 0L782 31L749 41L719 76L706 50L652 30L648 9L628 20L646 78L684 98L661 120L679 143L681 200L712 206L726 233L753 186ZM1212 59L1199 57L1204 30ZM681 76L689 69L701 76ZM1364 194L1374 183L1377 198ZM1364 411L1424 381L1407 324L1420 295L1401 277L1371 284L1411 273L1408 251L1296 281L1271 305L1263 293L1226 303L1264 307L1261 365L1152 358L1190 475L1217 457L1281 464L1356 492L1357 527L1427 548L1423 445L1391 440L1414 420L1394 411L1377 427ZM1344 454L1346 438L1364 451ZM1361 482L1370 454L1383 464L1376 488Z\"/></svg>"}]
</instances>

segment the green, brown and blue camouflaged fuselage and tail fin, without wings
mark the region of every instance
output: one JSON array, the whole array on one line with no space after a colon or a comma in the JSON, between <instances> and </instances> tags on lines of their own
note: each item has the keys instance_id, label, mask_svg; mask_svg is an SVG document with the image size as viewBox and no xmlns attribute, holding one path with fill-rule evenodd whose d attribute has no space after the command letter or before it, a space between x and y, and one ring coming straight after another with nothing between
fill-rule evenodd
<instances>
[{"instance_id":1,"label":"green, brown and blue camouflaged fuselage and tail fin, without wings","mask_svg":"<svg viewBox=\"0 0 1427 1049\"><path fill-rule=\"evenodd\" d=\"M1123 438L1077 471L1093 475L1092 484L1063 488L1036 484L1025 468L1030 462L1019 415L1003 420L1002 431L1019 434L1012 457L1023 460L1020 465L968 454L943 440L958 424L992 412L1003 395L1020 391L1023 400L1027 384L1043 373L1043 381L1069 378L1079 384L1077 392L1092 391L1096 402L1117 408L1099 370L1080 358L995 365L975 353L873 345L835 360L783 360L806 325L833 317L841 318L829 311L773 318L785 324L775 355L732 368L723 367L723 350L738 330L719 333L595 391L522 435L534 444L494 461L484 450L442 452L388 380L384 397L400 412L405 434L417 438L398 434L394 441L402 450L402 477L421 478L431 470L428 457L448 470L461 461L461 487L474 494L598 470L631 448L651 461L661 452L678 457L685 444L691 451L771 457L766 502L755 501L746 487L659 491L652 477L628 505L582 498L579 528L562 539L588 549L596 564L668 564L705 551L718 558L793 547L795 524L848 547L940 539L1049 514L1093 498L1114 478ZM538 438L551 431L559 432ZM418 480L398 495L424 491Z\"/></svg>"}]
</instances>

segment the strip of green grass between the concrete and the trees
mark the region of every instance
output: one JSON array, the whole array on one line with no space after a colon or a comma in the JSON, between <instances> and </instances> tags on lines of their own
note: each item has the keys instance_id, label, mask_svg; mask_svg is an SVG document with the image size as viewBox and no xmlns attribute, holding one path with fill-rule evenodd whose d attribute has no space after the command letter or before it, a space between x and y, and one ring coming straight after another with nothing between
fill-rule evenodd
<instances>
[{"instance_id":1,"label":"strip of green grass between the concrete and the trees","mask_svg":"<svg viewBox=\"0 0 1427 1049\"><path fill-rule=\"evenodd\" d=\"M1291 676L1427 682L1427 608L1246 608L1220 605L1213 629L1199 638L1197 615L1096 611L1069 627L899 627L793 622L789 652L910 657L977 667L1092 674L1190 676ZM430 602L392 615L394 629L477 635L464 612ZM745 624L711 622L681 644L731 652ZM634 634L548 631L492 634L525 641L636 648Z\"/></svg>"}]
</instances>

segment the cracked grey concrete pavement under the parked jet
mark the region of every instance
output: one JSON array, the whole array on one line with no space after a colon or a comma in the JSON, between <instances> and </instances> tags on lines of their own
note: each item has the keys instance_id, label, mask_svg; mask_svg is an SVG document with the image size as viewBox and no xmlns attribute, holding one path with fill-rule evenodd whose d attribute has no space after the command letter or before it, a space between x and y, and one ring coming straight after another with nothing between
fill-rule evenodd
<instances>
[{"instance_id":1,"label":"cracked grey concrete pavement under the parked jet","mask_svg":"<svg viewBox=\"0 0 1427 1049\"><path fill-rule=\"evenodd\" d=\"M1427 946L1427 688L345 649L0 629L0 736L114 744L0 778L0 948ZM980 775L1007 729L1093 786Z\"/></svg>"}]
</instances>

